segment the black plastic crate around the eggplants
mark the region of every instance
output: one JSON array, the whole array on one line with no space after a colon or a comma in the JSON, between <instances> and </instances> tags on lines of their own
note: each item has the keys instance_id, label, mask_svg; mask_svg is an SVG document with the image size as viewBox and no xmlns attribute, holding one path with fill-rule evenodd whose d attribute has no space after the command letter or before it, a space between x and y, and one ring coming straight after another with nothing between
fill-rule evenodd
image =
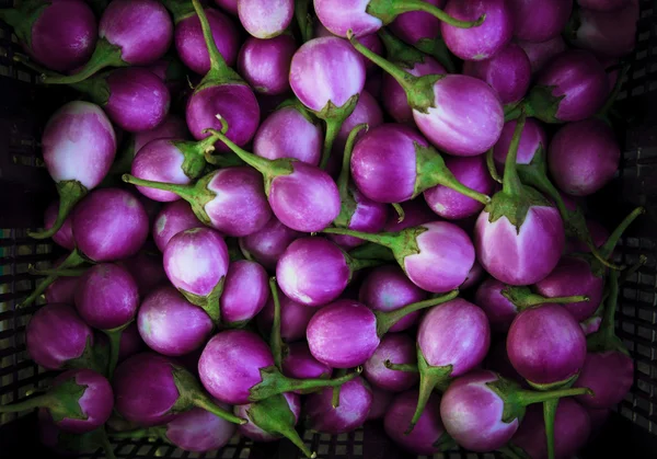
<instances>
[{"instance_id":1,"label":"black plastic crate around the eggplants","mask_svg":"<svg viewBox=\"0 0 657 459\"><path fill-rule=\"evenodd\" d=\"M468 1L468 0L463 0ZM639 0L637 43L631 70L619 96L624 115L619 126L623 158L616 177L590 204L589 211L607 227L614 226L633 207L647 209L621 240L619 261L647 263L623 286L619 298L618 334L635 359L634 386L583 457L657 457L657 0ZM0 0L0 8L11 7ZM66 100L66 90L48 90L34 74L15 65L20 46L0 24L0 404L26 397L53 376L38 368L25 352L24 330L36 307L16 310L21 298L35 288L30 264L50 262L59 252L47 242L26 236L43 223L43 211L55 187L43 167L42 128ZM70 99L70 97L69 97ZM0 458L54 454L38 445L34 413L0 415ZM319 459L415 459L401 451L382 433L379 423L339 436L306 432L303 440ZM296 459L302 456L287 440L254 444L234 438L219 451L191 454L163 443L123 440L117 458ZM102 452L82 458L101 458ZM449 451L445 459L488 459L497 455ZM429 459L419 457L417 459Z\"/></svg>"}]
</instances>

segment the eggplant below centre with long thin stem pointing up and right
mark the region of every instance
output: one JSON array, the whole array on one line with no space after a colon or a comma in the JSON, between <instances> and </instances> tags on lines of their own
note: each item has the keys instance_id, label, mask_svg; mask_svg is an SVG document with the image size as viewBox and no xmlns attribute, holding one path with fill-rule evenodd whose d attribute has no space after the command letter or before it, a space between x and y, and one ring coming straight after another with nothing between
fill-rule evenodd
<instances>
[{"instance_id":1,"label":"eggplant below centre with long thin stem pointing up and right","mask_svg":"<svg viewBox=\"0 0 657 459\"><path fill-rule=\"evenodd\" d=\"M353 368L369 359L390 328L406 314L456 298L451 291L390 312L373 312L365 305L341 299L320 309L308 324L306 337L314 358L332 368Z\"/></svg>"}]
</instances>

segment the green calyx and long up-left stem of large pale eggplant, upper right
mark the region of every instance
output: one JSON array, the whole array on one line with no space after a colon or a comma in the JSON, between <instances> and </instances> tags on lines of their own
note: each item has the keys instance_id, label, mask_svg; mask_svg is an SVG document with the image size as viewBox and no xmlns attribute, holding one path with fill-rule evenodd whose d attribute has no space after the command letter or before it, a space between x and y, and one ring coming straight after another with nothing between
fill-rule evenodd
<instances>
[{"instance_id":1,"label":"green calyx and long up-left stem of large pale eggplant, upper right","mask_svg":"<svg viewBox=\"0 0 657 459\"><path fill-rule=\"evenodd\" d=\"M423 3L428 4L428 3ZM420 113L428 113L429 108L436 107L436 96L434 94L434 84L436 81L445 78L443 74L427 74L424 77L415 77L407 71L395 66L391 61L382 58L381 56L372 53L365 47L360 42L356 39L356 36L351 31L347 32L347 38L351 43L351 46L367 57L369 60L381 67L397 83L404 89L406 97L408 99L408 105L413 110Z\"/></svg>"}]
</instances>

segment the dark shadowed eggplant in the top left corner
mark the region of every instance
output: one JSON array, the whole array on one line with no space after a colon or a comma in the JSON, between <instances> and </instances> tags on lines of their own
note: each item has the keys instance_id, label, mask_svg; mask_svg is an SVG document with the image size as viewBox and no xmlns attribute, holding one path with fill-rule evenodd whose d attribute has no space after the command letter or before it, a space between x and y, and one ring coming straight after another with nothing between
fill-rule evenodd
<instances>
[{"instance_id":1,"label":"dark shadowed eggplant in the top left corner","mask_svg":"<svg viewBox=\"0 0 657 459\"><path fill-rule=\"evenodd\" d=\"M0 19L34 60L59 72L85 64L97 39L93 11L82 0L21 3L0 10Z\"/></svg>"}]
</instances>

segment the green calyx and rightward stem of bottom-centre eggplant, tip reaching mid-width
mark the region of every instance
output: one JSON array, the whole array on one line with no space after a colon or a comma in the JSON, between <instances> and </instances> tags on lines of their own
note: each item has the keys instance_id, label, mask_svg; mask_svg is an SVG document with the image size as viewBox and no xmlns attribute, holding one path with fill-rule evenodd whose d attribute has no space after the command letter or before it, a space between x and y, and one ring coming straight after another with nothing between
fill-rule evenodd
<instances>
[{"instance_id":1,"label":"green calyx and rightward stem of bottom-centre eggplant, tip reaching mid-width","mask_svg":"<svg viewBox=\"0 0 657 459\"><path fill-rule=\"evenodd\" d=\"M285 392L304 391L309 392L318 388L334 388L350 381L362 372L362 368L358 367L354 372L334 379L293 379L288 378L280 372L276 366L261 368L262 382L251 388L249 401L260 402L269 397Z\"/></svg>"}]
</instances>

